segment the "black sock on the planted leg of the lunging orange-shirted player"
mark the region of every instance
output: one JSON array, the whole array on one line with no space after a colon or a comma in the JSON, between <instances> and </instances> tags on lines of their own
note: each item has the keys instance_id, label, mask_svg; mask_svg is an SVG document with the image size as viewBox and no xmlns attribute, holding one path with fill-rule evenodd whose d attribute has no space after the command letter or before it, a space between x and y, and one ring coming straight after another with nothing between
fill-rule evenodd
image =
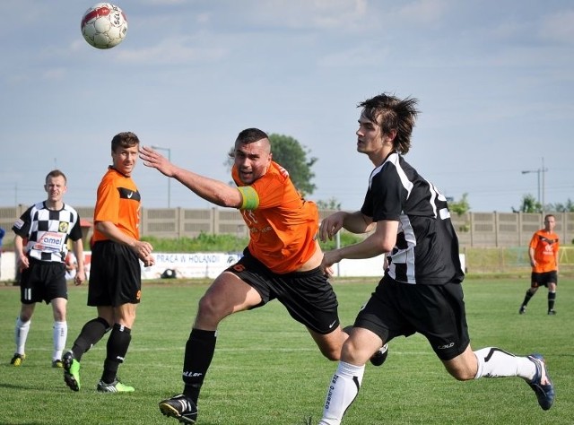
<instances>
[{"instance_id":1,"label":"black sock on the planted leg of the lunging orange-shirted player","mask_svg":"<svg viewBox=\"0 0 574 425\"><path fill-rule=\"evenodd\" d=\"M199 391L204 384L205 374L212 363L215 352L216 331L192 329L186 343L183 360L183 394L197 404Z\"/></svg>"}]
</instances>

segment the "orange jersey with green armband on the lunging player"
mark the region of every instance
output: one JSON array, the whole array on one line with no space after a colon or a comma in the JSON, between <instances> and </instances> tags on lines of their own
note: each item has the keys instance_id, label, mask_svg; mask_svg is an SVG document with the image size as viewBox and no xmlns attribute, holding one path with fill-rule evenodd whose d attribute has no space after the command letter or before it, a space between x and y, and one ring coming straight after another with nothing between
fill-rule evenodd
<instances>
[{"instance_id":1,"label":"orange jersey with green armband on the lunging player","mask_svg":"<svg viewBox=\"0 0 574 425\"><path fill-rule=\"evenodd\" d=\"M239 211L249 229L249 252L274 273L299 269L317 249L317 205L300 196L276 162L250 186L241 183L235 166L231 176L243 196Z\"/></svg>"}]
</instances>

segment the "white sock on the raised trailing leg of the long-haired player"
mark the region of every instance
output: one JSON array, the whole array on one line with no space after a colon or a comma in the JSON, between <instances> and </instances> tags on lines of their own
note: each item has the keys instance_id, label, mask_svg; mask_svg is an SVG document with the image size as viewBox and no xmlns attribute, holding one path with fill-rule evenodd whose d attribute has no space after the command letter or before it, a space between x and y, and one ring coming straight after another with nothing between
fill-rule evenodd
<instances>
[{"instance_id":1,"label":"white sock on the raised trailing leg of the long-haired player","mask_svg":"<svg viewBox=\"0 0 574 425\"><path fill-rule=\"evenodd\" d=\"M517 357L499 348L487 347L474 351L478 360L479 377L522 377L531 381L535 377L536 366L527 357Z\"/></svg>"}]
</instances>

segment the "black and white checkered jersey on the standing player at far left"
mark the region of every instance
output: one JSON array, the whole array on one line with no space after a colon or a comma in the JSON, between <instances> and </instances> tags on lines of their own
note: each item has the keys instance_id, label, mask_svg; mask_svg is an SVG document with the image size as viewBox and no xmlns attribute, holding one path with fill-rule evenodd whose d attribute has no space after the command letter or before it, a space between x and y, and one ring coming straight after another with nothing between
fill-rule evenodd
<instances>
[{"instance_id":1,"label":"black and white checkered jersey on the standing player at far left","mask_svg":"<svg viewBox=\"0 0 574 425\"><path fill-rule=\"evenodd\" d=\"M64 263L67 240L82 239L80 216L70 205L61 210L48 210L45 202L34 204L18 219L12 230L28 239L24 251L41 261Z\"/></svg>"}]
</instances>

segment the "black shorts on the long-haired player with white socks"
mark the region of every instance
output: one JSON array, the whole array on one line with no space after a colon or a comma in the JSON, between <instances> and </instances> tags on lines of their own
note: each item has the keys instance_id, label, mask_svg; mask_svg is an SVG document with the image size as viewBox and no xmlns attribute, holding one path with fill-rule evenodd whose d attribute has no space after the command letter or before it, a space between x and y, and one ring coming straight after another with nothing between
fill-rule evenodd
<instances>
[{"instance_id":1,"label":"black shorts on the long-haired player with white socks","mask_svg":"<svg viewBox=\"0 0 574 425\"><path fill-rule=\"evenodd\" d=\"M413 285L385 276L354 325L378 334L384 342L418 332L441 360L454 359L470 343L460 283Z\"/></svg>"}]
</instances>

